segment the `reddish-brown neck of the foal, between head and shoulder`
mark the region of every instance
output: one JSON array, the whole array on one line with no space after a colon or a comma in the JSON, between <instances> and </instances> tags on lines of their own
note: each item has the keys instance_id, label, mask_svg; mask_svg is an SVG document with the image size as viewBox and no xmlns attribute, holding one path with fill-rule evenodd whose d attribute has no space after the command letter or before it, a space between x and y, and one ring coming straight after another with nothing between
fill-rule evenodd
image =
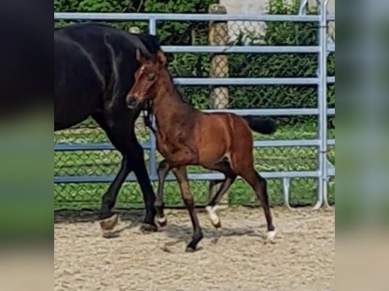
<instances>
[{"instance_id":1,"label":"reddish-brown neck of the foal, between head and shoulder","mask_svg":"<svg viewBox=\"0 0 389 291\"><path fill-rule=\"evenodd\" d=\"M167 130L170 124L184 124L188 115L194 111L190 105L181 100L169 76L164 70L157 86L157 96L153 100L153 113L159 130Z\"/></svg>"}]
</instances>

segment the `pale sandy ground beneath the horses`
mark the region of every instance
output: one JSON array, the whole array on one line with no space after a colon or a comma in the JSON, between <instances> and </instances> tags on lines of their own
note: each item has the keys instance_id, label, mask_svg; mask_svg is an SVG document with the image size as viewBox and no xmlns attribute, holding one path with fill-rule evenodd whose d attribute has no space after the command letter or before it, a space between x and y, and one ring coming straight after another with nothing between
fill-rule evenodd
<instances>
[{"instance_id":1,"label":"pale sandy ground beneath the horses","mask_svg":"<svg viewBox=\"0 0 389 291\"><path fill-rule=\"evenodd\" d=\"M262 209L220 211L219 231L200 212L195 253L184 252L186 211L166 213L168 225L152 234L139 230L143 212L121 213L110 239L95 214L56 213L54 290L335 290L334 211L273 208L275 244L265 243Z\"/></svg>"}]
</instances>

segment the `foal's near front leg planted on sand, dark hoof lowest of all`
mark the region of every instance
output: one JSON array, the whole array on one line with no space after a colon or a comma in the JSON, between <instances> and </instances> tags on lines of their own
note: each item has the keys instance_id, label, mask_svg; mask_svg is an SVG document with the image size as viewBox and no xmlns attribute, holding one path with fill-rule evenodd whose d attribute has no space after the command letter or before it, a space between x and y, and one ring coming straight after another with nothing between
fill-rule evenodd
<instances>
[{"instance_id":1,"label":"foal's near front leg planted on sand, dark hoof lowest of all","mask_svg":"<svg viewBox=\"0 0 389 291\"><path fill-rule=\"evenodd\" d=\"M199 223L199 218L196 214L195 201L190 193L189 181L186 173L186 167L173 168L173 173L177 178L178 184L180 185L181 195L184 200L186 209L189 212L190 220L193 226L192 240L186 247L186 251L195 251L199 241L203 238L203 232Z\"/></svg>"}]
</instances>

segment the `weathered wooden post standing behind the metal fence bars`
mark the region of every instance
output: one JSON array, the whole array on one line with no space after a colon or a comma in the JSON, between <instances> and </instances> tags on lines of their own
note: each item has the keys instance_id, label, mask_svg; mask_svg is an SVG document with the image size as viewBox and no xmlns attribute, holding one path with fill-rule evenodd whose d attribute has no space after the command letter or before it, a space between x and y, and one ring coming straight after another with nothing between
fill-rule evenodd
<instances>
[{"instance_id":1,"label":"weathered wooden post standing behind the metal fence bars","mask_svg":"<svg viewBox=\"0 0 389 291\"><path fill-rule=\"evenodd\" d=\"M208 12L210 14L226 14L225 6L219 4L210 5ZM226 46L228 43L228 25L226 21L211 21L209 23L209 44L211 46ZM211 56L210 77L228 78L229 66L228 58L223 54L213 54ZM229 104L228 87L214 87L211 92L211 107L226 108ZM209 182L209 198L213 197L220 189L221 180L212 180ZM224 195L219 204L229 204L228 195Z\"/></svg>"}]
</instances>

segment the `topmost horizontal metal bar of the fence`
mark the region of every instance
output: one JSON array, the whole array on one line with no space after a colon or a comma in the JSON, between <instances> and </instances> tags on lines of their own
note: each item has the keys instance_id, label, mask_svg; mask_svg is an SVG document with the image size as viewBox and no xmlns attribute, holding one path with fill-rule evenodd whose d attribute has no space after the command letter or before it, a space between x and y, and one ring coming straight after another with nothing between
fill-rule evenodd
<instances>
[{"instance_id":1,"label":"topmost horizontal metal bar of the fence","mask_svg":"<svg viewBox=\"0 0 389 291\"><path fill-rule=\"evenodd\" d=\"M263 21L263 22L318 22L318 15L267 15L267 14L185 14L185 13L73 13L55 12L54 20L100 21Z\"/></svg>"}]
</instances>

